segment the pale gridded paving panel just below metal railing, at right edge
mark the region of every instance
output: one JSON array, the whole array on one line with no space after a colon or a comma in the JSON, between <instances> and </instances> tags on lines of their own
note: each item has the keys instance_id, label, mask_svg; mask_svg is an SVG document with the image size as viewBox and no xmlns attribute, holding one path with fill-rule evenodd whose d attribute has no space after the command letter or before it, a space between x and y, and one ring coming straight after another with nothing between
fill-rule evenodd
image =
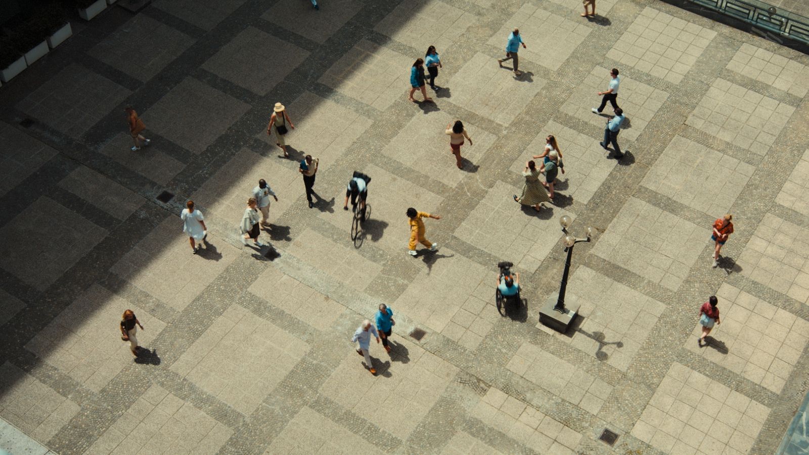
<instances>
[{"instance_id":1,"label":"pale gridded paving panel just below metal railing, at right edge","mask_svg":"<svg viewBox=\"0 0 809 455\"><path fill-rule=\"evenodd\" d=\"M809 91L809 67L743 43L726 68L803 98Z\"/></svg>"}]
</instances>

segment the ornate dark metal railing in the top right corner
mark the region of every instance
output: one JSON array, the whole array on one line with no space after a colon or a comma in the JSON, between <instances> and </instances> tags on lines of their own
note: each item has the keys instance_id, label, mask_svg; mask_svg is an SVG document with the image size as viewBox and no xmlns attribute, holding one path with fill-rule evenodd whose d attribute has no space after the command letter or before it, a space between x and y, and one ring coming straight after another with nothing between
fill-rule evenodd
<instances>
[{"instance_id":1,"label":"ornate dark metal railing in the top right corner","mask_svg":"<svg viewBox=\"0 0 809 455\"><path fill-rule=\"evenodd\" d=\"M809 19L758 0L686 0L722 15L740 19L775 36L809 45ZM772 35L775 36L772 36Z\"/></svg>"}]
</instances>

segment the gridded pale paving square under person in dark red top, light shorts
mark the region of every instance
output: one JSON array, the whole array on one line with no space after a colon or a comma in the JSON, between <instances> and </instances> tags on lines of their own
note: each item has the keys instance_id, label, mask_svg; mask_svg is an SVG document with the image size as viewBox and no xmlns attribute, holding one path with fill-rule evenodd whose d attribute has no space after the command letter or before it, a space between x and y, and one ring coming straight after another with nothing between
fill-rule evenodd
<instances>
[{"instance_id":1,"label":"gridded pale paving square under person in dark red top, light shorts","mask_svg":"<svg viewBox=\"0 0 809 455\"><path fill-rule=\"evenodd\" d=\"M702 326L697 324L685 347L773 392L781 392L807 345L809 322L727 283L716 295L722 323L714 325L715 338L709 338L708 346L698 347L696 339L702 336Z\"/></svg>"}]
</instances>

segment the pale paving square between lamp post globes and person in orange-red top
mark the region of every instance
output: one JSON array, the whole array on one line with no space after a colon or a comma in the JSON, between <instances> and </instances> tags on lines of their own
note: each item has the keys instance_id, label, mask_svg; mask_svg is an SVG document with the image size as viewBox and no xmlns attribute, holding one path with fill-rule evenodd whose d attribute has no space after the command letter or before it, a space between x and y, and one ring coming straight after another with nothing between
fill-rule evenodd
<instances>
[{"instance_id":1,"label":"pale paving square between lamp post globes and person in orange-red top","mask_svg":"<svg viewBox=\"0 0 809 455\"><path fill-rule=\"evenodd\" d=\"M702 228L637 198L629 198L593 253L676 291L709 241Z\"/></svg>"}]
</instances>

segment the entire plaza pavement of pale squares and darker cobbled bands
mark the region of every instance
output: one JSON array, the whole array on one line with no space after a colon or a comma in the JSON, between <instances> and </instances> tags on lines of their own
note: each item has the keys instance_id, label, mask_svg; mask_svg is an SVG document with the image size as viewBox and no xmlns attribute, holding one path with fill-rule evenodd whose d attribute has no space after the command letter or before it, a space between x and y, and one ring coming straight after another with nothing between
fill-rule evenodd
<instances>
[{"instance_id":1,"label":"entire plaza pavement of pale squares and darker cobbled bands","mask_svg":"<svg viewBox=\"0 0 809 455\"><path fill-rule=\"evenodd\" d=\"M62 454L773 453L809 387L806 55L656 0L599 0L592 20L573 0L320 5L113 7L0 87L2 419ZM519 79L495 61L515 26ZM428 45L447 88L409 103ZM613 66L621 162L590 112ZM293 157L320 158L316 208L265 134L277 101ZM455 118L475 141L462 171ZM546 134L567 173L536 214L511 195ZM340 206L354 169L373 177L358 247ZM258 251L235 229L262 177L279 201ZM196 256L188 198L210 232ZM408 206L442 215L438 253L405 253ZM537 323L561 215L595 232L568 334ZM506 317L500 260L524 285ZM712 294L722 325L698 348ZM371 376L349 338L379 303L397 324ZM136 360L126 308L146 328Z\"/></svg>"}]
</instances>

